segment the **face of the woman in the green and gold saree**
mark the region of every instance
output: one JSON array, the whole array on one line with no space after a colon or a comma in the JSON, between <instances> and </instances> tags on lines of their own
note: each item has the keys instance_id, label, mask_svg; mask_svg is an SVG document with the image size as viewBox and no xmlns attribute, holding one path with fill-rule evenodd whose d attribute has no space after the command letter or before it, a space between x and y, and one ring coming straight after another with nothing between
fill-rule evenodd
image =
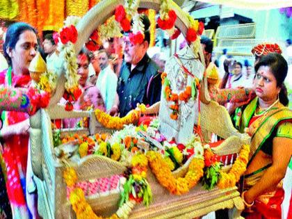
<instances>
[{"instance_id":1,"label":"face of the woman in the green and gold saree","mask_svg":"<svg viewBox=\"0 0 292 219\"><path fill-rule=\"evenodd\" d=\"M270 67L259 67L254 79L254 89L256 95L263 99L263 101L272 101L277 99L280 88L277 87L277 80L270 71Z\"/></svg>"}]
</instances>

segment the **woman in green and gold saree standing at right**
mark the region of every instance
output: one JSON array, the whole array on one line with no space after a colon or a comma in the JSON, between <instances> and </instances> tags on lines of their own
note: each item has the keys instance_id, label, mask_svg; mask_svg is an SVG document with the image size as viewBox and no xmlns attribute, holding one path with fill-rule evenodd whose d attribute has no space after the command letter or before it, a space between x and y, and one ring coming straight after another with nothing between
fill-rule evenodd
<instances>
[{"instance_id":1,"label":"woman in green and gold saree standing at right","mask_svg":"<svg viewBox=\"0 0 292 219\"><path fill-rule=\"evenodd\" d=\"M257 97L236 110L236 127L251 136L250 159L241 183L245 218L281 218L282 179L292 154L292 112L284 88L288 65L271 53L255 65ZM242 112L242 113L241 113Z\"/></svg>"}]
</instances>

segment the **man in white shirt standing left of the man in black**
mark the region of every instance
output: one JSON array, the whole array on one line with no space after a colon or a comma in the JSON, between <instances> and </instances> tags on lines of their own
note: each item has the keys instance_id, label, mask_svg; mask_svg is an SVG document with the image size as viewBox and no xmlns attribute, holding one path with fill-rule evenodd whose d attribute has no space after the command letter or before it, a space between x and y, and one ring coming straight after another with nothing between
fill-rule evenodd
<instances>
[{"instance_id":1,"label":"man in white shirt standing left of the man in black","mask_svg":"<svg viewBox=\"0 0 292 219\"><path fill-rule=\"evenodd\" d=\"M102 49L98 55L99 66L101 71L97 76L97 83L95 86L102 92L104 103L106 105L106 111L111 111L115 101L115 95L117 91L117 75L108 65L108 54L106 50Z\"/></svg>"}]
</instances>

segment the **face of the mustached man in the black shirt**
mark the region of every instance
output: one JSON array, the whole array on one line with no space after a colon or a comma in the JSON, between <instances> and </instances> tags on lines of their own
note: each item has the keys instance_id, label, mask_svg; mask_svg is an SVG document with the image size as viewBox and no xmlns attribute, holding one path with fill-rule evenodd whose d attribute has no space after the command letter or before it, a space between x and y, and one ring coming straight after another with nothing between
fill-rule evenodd
<instances>
[{"instance_id":1,"label":"face of the mustached man in the black shirt","mask_svg":"<svg viewBox=\"0 0 292 219\"><path fill-rule=\"evenodd\" d=\"M129 37L125 36L124 40L124 60L126 63L131 63L132 65L137 65L138 62L143 58L147 49L148 49L148 42L144 41L141 44L131 44Z\"/></svg>"}]
</instances>

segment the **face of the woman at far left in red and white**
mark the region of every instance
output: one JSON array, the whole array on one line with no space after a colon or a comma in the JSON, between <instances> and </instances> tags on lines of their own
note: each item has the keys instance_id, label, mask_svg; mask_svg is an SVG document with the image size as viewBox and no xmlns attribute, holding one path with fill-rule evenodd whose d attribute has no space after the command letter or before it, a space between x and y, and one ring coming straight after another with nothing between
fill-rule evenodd
<instances>
[{"instance_id":1,"label":"face of the woman at far left in red and white","mask_svg":"<svg viewBox=\"0 0 292 219\"><path fill-rule=\"evenodd\" d=\"M29 74L29 64L38 49L37 36L33 31L24 31L14 49L8 48L8 55L12 60L13 69L20 70L18 74Z\"/></svg>"}]
</instances>

